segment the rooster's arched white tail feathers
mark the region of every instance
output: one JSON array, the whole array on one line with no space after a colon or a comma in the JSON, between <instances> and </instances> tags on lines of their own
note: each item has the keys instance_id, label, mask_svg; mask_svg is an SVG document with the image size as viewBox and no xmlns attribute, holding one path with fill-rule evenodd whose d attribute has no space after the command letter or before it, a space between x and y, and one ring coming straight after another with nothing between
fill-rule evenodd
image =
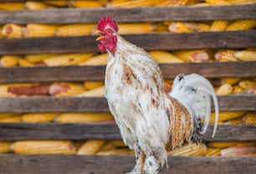
<instances>
[{"instance_id":1,"label":"rooster's arched white tail feathers","mask_svg":"<svg viewBox=\"0 0 256 174\"><path fill-rule=\"evenodd\" d=\"M170 92L169 95L176 98L187 107L188 112L190 112L193 118L204 118L202 134L207 130L211 116L211 101L213 100L215 107L215 124L212 137L214 137L218 126L218 99L212 84L205 77L195 73L187 76L179 74L174 79L172 92Z\"/></svg>"}]
</instances>

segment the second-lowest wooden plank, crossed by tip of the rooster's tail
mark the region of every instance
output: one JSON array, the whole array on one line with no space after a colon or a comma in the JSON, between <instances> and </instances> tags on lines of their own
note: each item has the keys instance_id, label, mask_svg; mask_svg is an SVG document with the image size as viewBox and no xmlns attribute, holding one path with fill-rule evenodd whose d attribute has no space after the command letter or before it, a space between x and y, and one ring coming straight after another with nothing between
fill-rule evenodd
<instances>
[{"instance_id":1,"label":"second-lowest wooden plank, crossed by tip of the rooster's tail","mask_svg":"<svg viewBox=\"0 0 256 174\"><path fill-rule=\"evenodd\" d=\"M205 142L255 142L255 125L218 125L212 138L210 125L203 137ZM18 140L119 140L120 131L115 123L0 123L1 141Z\"/></svg>"}]
</instances>

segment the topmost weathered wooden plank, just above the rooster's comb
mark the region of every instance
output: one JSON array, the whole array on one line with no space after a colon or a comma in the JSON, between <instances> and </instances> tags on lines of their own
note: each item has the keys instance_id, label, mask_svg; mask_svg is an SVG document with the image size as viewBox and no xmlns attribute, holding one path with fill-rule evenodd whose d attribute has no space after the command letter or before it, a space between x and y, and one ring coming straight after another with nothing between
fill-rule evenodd
<instances>
[{"instance_id":1,"label":"topmost weathered wooden plank, just above the rooster's comb","mask_svg":"<svg viewBox=\"0 0 256 174\"><path fill-rule=\"evenodd\" d=\"M104 15L117 22L203 21L255 19L256 5L133 7L133 8L58 8L40 11L1 11L0 23L83 23L98 22Z\"/></svg>"}]
</instances>

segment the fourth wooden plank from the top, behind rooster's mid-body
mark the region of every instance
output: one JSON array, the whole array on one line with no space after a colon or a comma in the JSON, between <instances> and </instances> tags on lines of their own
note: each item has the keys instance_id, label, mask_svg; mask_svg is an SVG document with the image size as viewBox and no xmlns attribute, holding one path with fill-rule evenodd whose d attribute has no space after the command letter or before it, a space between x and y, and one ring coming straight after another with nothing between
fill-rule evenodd
<instances>
[{"instance_id":1,"label":"fourth wooden plank from the top, behind rooster's mid-body","mask_svg":"<svg viewBox=\"0 0 256 174\"><path fill-rule=\"evenodd\" d=\"M218 103L220 111L255 111L256 95L218 96ZM109 107L105 97L0 97L0 112L109 112Z\"/></svg>"}]
</instances>

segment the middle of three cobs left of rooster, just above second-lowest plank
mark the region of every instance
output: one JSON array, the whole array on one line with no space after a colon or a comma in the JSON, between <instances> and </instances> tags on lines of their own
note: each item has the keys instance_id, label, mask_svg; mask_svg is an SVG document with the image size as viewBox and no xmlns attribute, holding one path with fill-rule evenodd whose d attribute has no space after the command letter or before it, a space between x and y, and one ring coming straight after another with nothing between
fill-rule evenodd
<instances>
[{"instance_id":1,"label":"middle of three cobs left of rooster, just above second-lowest plank","mask_svg":"<svg viewBox=\"0 0 256 174\"><path fill-rule=\"evenodd\" d=\"M52 122L57 113L27 113L23 114L23 122Z\"/></svg>"}]
</instances>

